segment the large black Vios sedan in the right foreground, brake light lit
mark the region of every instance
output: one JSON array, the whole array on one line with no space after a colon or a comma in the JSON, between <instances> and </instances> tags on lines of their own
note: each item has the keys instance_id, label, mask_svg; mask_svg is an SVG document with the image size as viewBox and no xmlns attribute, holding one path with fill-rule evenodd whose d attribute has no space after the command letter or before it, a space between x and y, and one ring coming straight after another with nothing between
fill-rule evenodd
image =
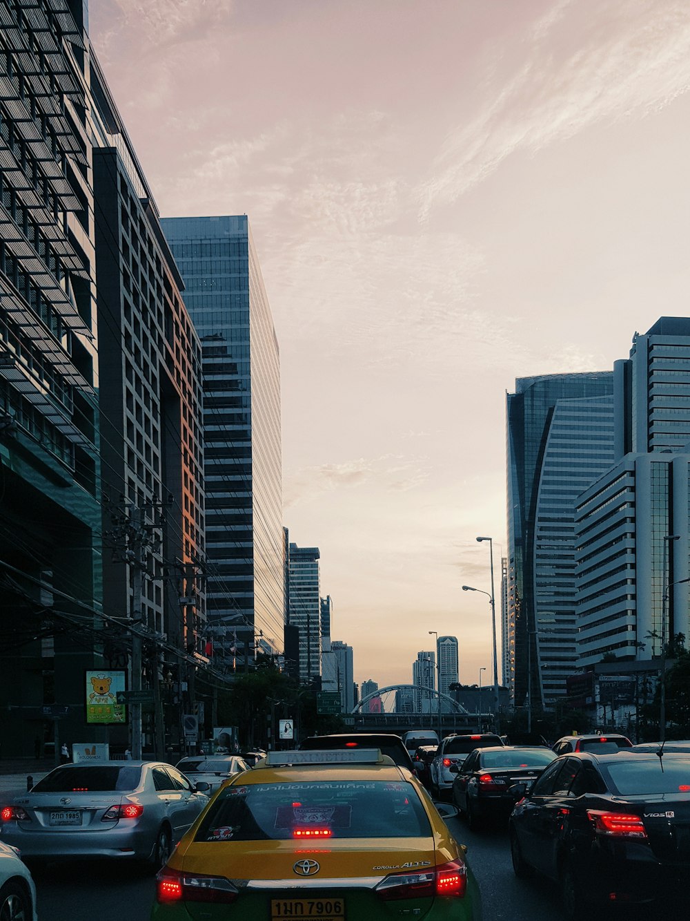
<instances>
[{"instance_id":1,"label":"large black Vios sedan in the right foreground, brake light lit","mask_svg":"<svg viewBox=\"0 0 690 921\"><path fill-rule=\"evenodd\" d=\"M566 918L686 894L690 755L573 752L514 792L524 792L509 824L515 875L557 880Z\"/></svg>"}]
</instances>

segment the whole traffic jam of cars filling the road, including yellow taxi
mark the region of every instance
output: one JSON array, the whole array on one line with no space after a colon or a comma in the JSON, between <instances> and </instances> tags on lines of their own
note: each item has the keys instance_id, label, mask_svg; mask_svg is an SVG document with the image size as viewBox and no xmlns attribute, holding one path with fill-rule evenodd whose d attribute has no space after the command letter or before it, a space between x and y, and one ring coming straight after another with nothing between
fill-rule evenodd
<instances>
[{"instance_id":1,"label":"whole traffic jam of cars filling the road, including yellow taxi","mask_svg":"<svg viewBox=\"0 0 690 921\"><path fill-rule=\"evenodd\" d=\"M253 766L63 764L0 807L0 918L36 921L32 870L99 859L155 875L151 921L481 921L455 818L498 830L519 884L555 888L568 921L684 904L690 743L510 741L351 733Z\"/></svg>"}]
</instances>

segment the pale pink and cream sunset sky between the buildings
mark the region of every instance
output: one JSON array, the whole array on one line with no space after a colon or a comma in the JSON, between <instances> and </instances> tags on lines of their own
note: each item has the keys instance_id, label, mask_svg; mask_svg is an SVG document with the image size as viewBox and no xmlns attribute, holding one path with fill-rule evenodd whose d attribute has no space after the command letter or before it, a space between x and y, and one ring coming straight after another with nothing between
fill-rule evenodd
<instances>
[{"instance_id":1,"label":"pale pink and cream sunset sky between the buildings","mask_svg":"<svg viewBox=\"0 0 690 921\"><path fill-rule=\"evenodd\" d=\"M687 316L686 0L91 0L161 216L247 214L355 681L492 672L505 394ZM500 614L497 613L500 655Z\"/></svg>"}]
</instances>

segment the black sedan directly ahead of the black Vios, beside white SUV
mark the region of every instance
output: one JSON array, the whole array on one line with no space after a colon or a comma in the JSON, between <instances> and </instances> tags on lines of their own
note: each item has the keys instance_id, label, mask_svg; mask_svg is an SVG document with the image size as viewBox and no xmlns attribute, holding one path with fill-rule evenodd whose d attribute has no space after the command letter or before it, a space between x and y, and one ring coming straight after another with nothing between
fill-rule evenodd
<instances>
[{"instance_id":1,"label":"black sedan directly ahead of the black Vios, beside white SUV","mask_svg":"<svg viewBox=\"0 0 690 921\"><path fill-rule=\"evenodd\" d=\"M536 746L506 745L470 752L462 764L452 764L454 806L466 815L473 831L488 819L507 819L515 805L511 788L532 786L556 755Z\"/></svg>"}]
</instances>

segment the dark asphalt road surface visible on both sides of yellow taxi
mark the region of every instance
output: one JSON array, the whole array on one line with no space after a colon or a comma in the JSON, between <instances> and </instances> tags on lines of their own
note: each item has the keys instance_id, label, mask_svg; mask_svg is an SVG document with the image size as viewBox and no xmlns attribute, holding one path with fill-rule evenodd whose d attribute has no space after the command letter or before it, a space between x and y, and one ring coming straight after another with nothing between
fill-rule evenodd
<instances>
[{"instance_id":1,"label":"dark asphalt road surface visible on both sides of yellow taxi","mask_svg":"<svg viewBox=\"0 0 690 921\"><path fill-rule=\"evenodd\" d=\"M484 921L555 921L558 892L546 880L523 882L512 872L508 836L500 829L467 830L448 819L482 892ZM34 876L40 921L148 921L154 880L143 871L112 864L53 864Z\"/></svg>"}]
</instances>

